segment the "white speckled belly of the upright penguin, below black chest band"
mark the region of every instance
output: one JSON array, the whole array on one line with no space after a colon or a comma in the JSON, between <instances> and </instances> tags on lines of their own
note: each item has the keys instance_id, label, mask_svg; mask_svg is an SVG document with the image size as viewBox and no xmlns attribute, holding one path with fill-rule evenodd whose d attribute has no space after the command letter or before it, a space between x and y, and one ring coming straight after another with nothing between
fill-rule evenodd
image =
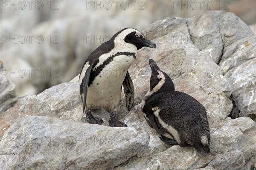
<instances>
[{"instance_id":1,"label":"white speckled belly of the upright penguin, below black chest band","mask_svg":"<svg viewBox=\"0 0 256 170\"><path fill-rule=\"evenodd\" d=\"M86 107L116 111L121 97L122 82L133 62L132 56L120 55L113 58L88 88Z\"/></svg>"}]
</instances>

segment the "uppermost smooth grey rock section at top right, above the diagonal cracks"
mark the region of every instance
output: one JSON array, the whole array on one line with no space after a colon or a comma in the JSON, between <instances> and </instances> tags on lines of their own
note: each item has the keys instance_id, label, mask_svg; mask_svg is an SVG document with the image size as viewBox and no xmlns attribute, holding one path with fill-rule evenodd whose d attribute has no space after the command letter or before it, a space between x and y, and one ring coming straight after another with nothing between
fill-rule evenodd
<instances>
[{"instance_id":1,"label":"uppermost smooth grey rock section at top right, above the diagonal cracks","mask_svg":"<svg viewBox=\"0 0 256 170\"><path fill-rule=\"evenodd\" d=\"M191 40L200 51L209 53L215 63L229 45L254 35L240 18L224 11L207 12L187 21Z\"/></svg>"}]
</instances>

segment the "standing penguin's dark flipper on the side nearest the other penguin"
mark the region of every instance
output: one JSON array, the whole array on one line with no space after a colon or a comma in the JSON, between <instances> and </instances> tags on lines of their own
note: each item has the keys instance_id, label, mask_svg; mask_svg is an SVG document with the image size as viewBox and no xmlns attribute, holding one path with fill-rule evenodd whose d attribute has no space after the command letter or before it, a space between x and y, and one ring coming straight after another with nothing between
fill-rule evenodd
<instances>
[{"instance_id":1,"label":"standing penguin's dark flipper on the side nearest the other penguin","mask_svg":"<svg viewBox=\"0 0 256 170\"><path fill-rule=\"evenodd\" d=\"M124 86L126 108L130 111L134 105L134 86L128 71L122 85Z\"/></svg>"}]
</instances>

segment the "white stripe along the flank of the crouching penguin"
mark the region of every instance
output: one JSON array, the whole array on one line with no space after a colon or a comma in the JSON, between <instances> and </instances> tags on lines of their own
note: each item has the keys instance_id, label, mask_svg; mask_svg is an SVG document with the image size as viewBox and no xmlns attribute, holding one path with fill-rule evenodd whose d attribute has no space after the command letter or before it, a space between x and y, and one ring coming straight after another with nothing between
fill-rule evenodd
<instances>
[{"instance_id":1,"label":"white stripe along the flank of the crouching penguin","mask_svg":"<svg viewBox=\"0 0 256 170\"><path fill-rule=\"evenodd\" d=\"M173 128L171 125L167 125L165 122L163 122L162 119L160 119L160 116L159 116L160 108L154 107L152 108L152 110L154 111L154 115L157 117L158 121L163 126L163 128L167 129L172 134L174 139L178 142L178 144L180 144L180 136L177 130L175 130L175 128ZM163 135L165 136L165 134ZM166 137L169 137L169 136L166 136Z\"/></svg>"}]
</instances>

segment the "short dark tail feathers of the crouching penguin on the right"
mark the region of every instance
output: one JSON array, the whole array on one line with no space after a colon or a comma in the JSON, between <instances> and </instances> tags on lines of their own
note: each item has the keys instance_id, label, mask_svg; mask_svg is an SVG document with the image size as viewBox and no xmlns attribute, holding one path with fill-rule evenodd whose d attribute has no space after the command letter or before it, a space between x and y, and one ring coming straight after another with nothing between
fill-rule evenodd
<instances>
[{"instance_id":1,"label":"short dark tail feathers of the crouching penguin on the right","mask_svg":"<svg viewBox=\"0 0 256 170\"><path fill-rule=\"evenodd\" d=\"M210 150L210 136L200 136L199 141L193 144L195 149L203 156L209 155Z\"/></svg>"}]
</instances>

